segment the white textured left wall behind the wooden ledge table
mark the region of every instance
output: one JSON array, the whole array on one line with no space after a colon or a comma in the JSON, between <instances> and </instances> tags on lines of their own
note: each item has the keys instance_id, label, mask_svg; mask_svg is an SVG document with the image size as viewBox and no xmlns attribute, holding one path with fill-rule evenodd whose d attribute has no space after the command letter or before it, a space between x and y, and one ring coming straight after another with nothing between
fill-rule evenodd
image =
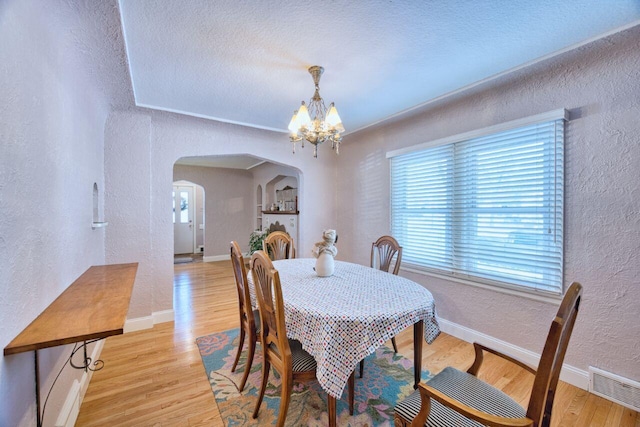
<instances>
[{"instance_id":1,"label":"white textured left wall behind the wooden ledge table","mask_svg":"<svg viewBox=\"0 0 640 427\"><path fill-rule=\"evenodd\" d=\"M108 104L79 48L88 23L74 5L0 4L0 347L91 265L104 229L91 229L101 194ZM102 212L101 212L102 214ZM42 398L70 352L41 350ZM0 425L35 425L33 352L0 361ZM47 403L52 425L81 372L66 367Z\"/></svg>"}]
</instances>

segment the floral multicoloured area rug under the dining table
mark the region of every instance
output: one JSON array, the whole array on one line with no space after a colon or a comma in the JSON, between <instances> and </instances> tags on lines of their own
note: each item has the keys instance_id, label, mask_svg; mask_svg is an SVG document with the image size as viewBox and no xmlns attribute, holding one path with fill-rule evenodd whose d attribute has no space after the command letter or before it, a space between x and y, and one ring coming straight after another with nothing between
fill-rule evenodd
<instances>
[{"instance_id":1,"label":"floral multicoloured area rug under the dining table","mask_svg":"<svg viewBox=\"0 0 640 427\"><path fill-rule=\"evenodd\" d=\"M236 372L231 366L236 355L239 330L207 335L196 340L200 356L211 383L211 389L222 419L228 426L274 425L280 405L280 381L272 370L257 419L251 418L261 382L262 354L257 345L251 373L242 393L242 380L247 351L242 352ZM413 392L413 361L381 347L365 360L364 378L356 374L355 407L349 415L347 390L337 401L339 426L393 426L396 402ZM422 380L430 378L422 371ZM294 383L287 412L287 426L328 425L327 394L317 381Z\"/></svg>"}]
</instances>

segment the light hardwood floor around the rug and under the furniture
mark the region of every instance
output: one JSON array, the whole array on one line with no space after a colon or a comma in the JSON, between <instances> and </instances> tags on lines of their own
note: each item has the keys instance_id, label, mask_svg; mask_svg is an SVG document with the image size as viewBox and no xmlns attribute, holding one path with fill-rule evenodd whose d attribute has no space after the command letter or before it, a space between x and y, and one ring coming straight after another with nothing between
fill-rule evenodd
<instances>
[{"instance_id":1,"label":"light hardwood floor around the rug and under the furniture","mask_svg":"<svg viewBox=\"0 0 640 427\"><path fill-rule=\"evenodd\" d=\"M175 322L107 338L104 369L94 373L76 425L225 425L195 339L239 325L233 281L228 261L175 265ZM412 358L412 328L396 340L399 351ZM466 369L472 360L471 344L444 333L424 346L423 367L432 373L446 366ZM488 355L480 377L527 404L530 374ZM552 426L640 427L640 414L561 383Z\"/></svg>"}]
</instances>

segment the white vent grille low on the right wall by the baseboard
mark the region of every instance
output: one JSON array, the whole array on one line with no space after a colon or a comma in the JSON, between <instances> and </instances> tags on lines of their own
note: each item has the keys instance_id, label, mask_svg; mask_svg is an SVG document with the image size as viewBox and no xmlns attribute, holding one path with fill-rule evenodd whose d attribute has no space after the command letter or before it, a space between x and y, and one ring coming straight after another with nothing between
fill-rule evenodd
<instances>
[{"instance_id":1,"label":"white vent grille low on the right wall by the baseboard","mask_svg":"<svg viewBox=\"0 0 640 427\"><path fill-rule=\"evenodd\" d=\"M640 411L640 383L637 381L590 366L589 391L634 411Z\"/></svg>"}]
</instances>

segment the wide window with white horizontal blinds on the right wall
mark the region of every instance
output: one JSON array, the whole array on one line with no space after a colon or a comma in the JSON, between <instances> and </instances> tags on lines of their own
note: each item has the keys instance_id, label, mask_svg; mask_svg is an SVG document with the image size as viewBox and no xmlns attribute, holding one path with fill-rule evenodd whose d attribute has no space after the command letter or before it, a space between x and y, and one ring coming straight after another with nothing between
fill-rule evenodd
<instances>
[{"instance_id":1,"label":"wide window with white horizontal blinds on the right wall","mask_svg":"<svg viewBox=\"0 0 640 427\"><path fill-rule=\"evenodd\" d=\"M403 264L562 293L565 110L387 154Z\"/></svg>"}]
</instances>

